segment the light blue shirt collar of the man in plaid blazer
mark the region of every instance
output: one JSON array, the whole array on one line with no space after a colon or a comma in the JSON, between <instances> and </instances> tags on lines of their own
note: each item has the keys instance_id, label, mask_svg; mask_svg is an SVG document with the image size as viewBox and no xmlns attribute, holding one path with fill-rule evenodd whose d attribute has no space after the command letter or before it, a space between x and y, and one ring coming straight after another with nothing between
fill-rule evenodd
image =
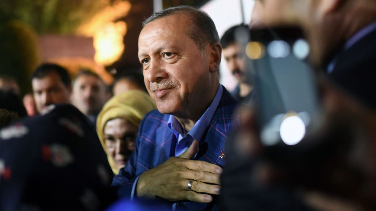
<instances>
[{"instance_id":1,"label":"light blue shirt collar of the man in plaid blazer","mask_svg":"<svg viewBox=\"0 0 376 211\"><path fill-rule=\"evenodd\" d=\"M206 109L205 113L200 117L196 124L193 125L193 128L188 132L187 135L192 136L193 139L196 139L198 141L202 139L203 134L209 127L211 119L214 116L215 110L217 110L219 102L221 101L222 93L223 87L219 85L217 93L215 94L214 99L212 100L208 109ZM170 128L171 131L173 131L174 134L180 134L181 136L184 136L185 132L183 131L182 125L180 125L180 122L177 121L175 116L170 115L167 121L167 126L168 128Z\"/></svg>"}]
</instances>

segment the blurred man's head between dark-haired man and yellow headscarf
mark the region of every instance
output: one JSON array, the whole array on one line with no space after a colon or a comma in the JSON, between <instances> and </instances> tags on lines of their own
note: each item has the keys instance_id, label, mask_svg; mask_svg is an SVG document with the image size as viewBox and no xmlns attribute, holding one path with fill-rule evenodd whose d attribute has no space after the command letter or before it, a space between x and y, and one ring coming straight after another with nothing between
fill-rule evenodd
<instances>
[{"instance_id":1,"label":"blurred man's head between dark-haired man and yellow headscarf","mask_svg":"<svg viewBox=\"0 0 376 211\"><path fill-rule=\"evenodd\" d=\"M97 115L111 97L108 86L102 78L88 70L79 72L72 84L72 104L95 125Z\"/></svg>"}]
</instances>

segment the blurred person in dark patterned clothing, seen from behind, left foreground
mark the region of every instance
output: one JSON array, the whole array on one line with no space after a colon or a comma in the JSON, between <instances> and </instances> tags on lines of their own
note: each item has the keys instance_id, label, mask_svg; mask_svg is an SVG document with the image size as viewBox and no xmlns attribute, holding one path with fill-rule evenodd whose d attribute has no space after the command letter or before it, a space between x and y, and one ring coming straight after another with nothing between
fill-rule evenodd
<instances>
[{"instance_id":1,"label":"blurred person in dark patterned clothing, seen from behind, left foreground","mask_svg":"<svg viewBox=\"0 0 376 211\"><path fill-rule=\"evenodd\" d=\"M104 210L112 170L96 133L73 105L0 130L0 210Z\"/></svg>"}]
</instances>

